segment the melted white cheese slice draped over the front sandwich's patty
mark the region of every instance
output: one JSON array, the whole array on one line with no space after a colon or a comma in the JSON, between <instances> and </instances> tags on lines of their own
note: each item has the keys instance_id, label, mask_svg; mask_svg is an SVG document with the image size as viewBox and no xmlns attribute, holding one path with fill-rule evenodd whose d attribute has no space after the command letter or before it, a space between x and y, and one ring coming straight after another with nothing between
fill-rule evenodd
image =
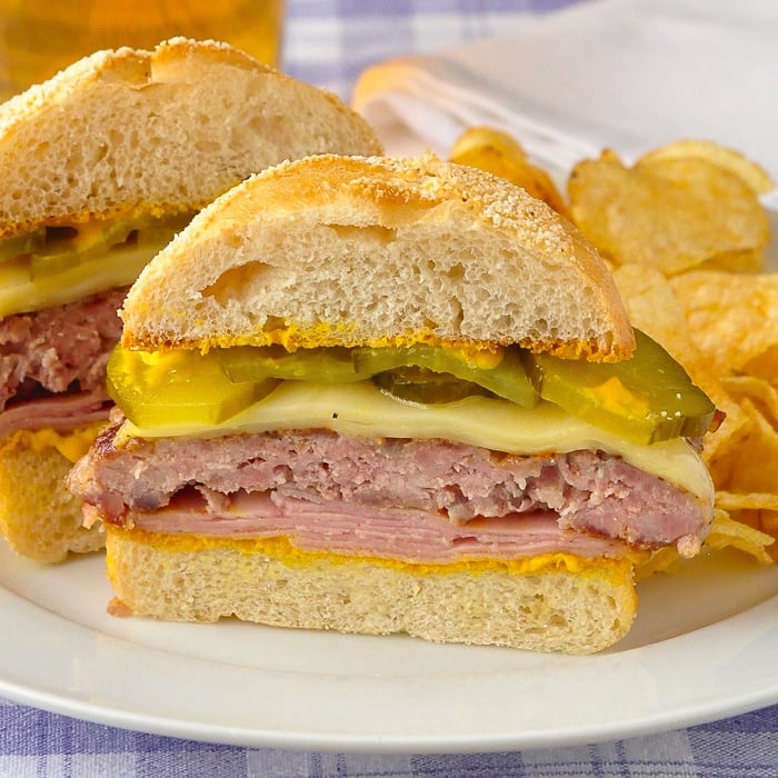
<instances>
[{"instance_id":1,"label":"melted white cheese slice draped over the front sandwich's patty","mask_svg":"<svg viewBox=\"0 0 778 778\"><path fill-rule=\"evenodd\" d=\"M545 401L531 409L478 396L440 406L411 405L383 395L370 381L283 381L263 400L219 425L141 428L126 421L116 445L123 446L130 438L210 438L316 428L362 438L442 438L521 455L599 449L711 506L714 500L710 475L682 438L650 446L634 443Z\"/></svg>"}]
</instances>

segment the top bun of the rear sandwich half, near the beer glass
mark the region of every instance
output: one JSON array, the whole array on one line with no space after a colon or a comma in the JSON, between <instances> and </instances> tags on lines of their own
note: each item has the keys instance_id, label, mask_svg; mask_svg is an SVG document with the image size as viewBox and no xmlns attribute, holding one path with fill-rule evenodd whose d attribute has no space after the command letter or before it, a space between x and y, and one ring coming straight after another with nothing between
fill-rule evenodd
<instances>
[{"instance_id":1,"label":"top bun of the rear sandwich half, near the beer glass","mask_svg":"<svg viewBox=\"0 0 778 778\"><path fill-rule=\"evenodd\" d=\"M44 219L197 210L285 159L380 150L338 98L226 43L99 51L0 106L0 237Z\"/></svg>"}]
</instances>

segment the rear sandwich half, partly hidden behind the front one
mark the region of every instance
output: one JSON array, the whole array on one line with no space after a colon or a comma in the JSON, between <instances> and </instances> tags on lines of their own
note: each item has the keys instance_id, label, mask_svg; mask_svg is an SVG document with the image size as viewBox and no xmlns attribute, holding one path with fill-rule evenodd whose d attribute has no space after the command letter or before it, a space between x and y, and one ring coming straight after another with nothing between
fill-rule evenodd
<instances>
[{"instance_id":1,"label":"rear sandwich half, partly hidden behind the front one","mask_svg":"<svg viewBox=\"0 0 778 778\"><path fill-rule=\"evenodd\" d=\"M223 43L102 51L0 107L0 529L41 561L102 546L63 486L111 405L117 310L194 212L311 153L377 153L333 96Z\"/></svg>"}]
</instances>

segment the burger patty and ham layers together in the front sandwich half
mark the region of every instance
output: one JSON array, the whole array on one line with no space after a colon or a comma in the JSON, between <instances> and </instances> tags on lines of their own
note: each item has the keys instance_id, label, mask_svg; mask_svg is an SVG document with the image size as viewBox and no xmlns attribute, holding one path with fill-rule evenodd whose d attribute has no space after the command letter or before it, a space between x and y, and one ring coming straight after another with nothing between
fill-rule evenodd
<instances>
[{"instance_id":1,"label":"burger patty and ham layers together in the front sandwich half","mask_svg":"<svg viewBox=\"0 0 778 778\"><path fill-rule=\"evenodd\" d=\"M326 429L133 438L114 425L70 476L94 518L167 535L288 538L307 551L452 562L694 556L710 509L602 450L517 455Z\"/></svg>"}]
</instances>

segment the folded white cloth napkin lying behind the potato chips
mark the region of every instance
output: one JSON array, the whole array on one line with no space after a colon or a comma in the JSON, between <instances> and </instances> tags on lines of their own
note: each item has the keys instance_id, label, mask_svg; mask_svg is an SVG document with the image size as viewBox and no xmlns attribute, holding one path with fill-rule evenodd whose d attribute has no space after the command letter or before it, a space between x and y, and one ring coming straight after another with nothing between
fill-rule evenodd
<instances>
[{"instance_id":1,"label":"folded white cloth napkin lying behind the potato chips","mask_svg":"<svg viewBox=\"0 0 778 778\"><path fill-rule=\"evenodd\" d=\"M776 0L590 0L516 33L373 66L352 102L387 151L440 154L467 127L513 133L566 170L707 138L778 181Z\"/></svg>"}]
</instances>

